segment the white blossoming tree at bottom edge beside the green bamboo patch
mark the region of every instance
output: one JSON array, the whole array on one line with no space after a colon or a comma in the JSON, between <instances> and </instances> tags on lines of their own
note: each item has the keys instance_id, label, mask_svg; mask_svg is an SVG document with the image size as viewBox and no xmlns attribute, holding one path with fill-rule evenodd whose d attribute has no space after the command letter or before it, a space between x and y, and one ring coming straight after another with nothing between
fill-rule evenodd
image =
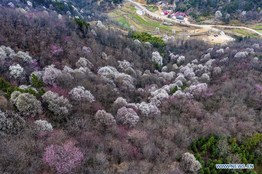
<instances>
[{"instance_id":1,"label":"white blossoming tree at bottom edge beside the green bamboo patch","mask_svg":"<svg viewBox=\"0 0 262 174\"><path fill-rule=\"evenodd\" d=\"M189 174L196 174L201 169L201 164L193 154L187 152L184 153L181 159L181 165L185 172Z\"/></svg>"}]
</instances>

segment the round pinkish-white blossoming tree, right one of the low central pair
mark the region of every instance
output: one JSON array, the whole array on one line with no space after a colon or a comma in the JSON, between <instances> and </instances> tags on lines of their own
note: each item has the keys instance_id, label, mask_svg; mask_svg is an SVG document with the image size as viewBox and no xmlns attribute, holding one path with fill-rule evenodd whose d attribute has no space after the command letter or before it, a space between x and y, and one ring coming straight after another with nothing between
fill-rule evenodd
<instances>
[{"instance_id":1,"label":"round pinkish-white blossoming tree, right one of the low central pair","mask_svg":"<svg viewBox=\"0 0 262 174\"><path fill-rule=\"evenodd\" d=\"M139 121L139 116L132 108L122 107L117 110L116 119L123 125L134 127Z\"/></svg>"}]
</instances>

